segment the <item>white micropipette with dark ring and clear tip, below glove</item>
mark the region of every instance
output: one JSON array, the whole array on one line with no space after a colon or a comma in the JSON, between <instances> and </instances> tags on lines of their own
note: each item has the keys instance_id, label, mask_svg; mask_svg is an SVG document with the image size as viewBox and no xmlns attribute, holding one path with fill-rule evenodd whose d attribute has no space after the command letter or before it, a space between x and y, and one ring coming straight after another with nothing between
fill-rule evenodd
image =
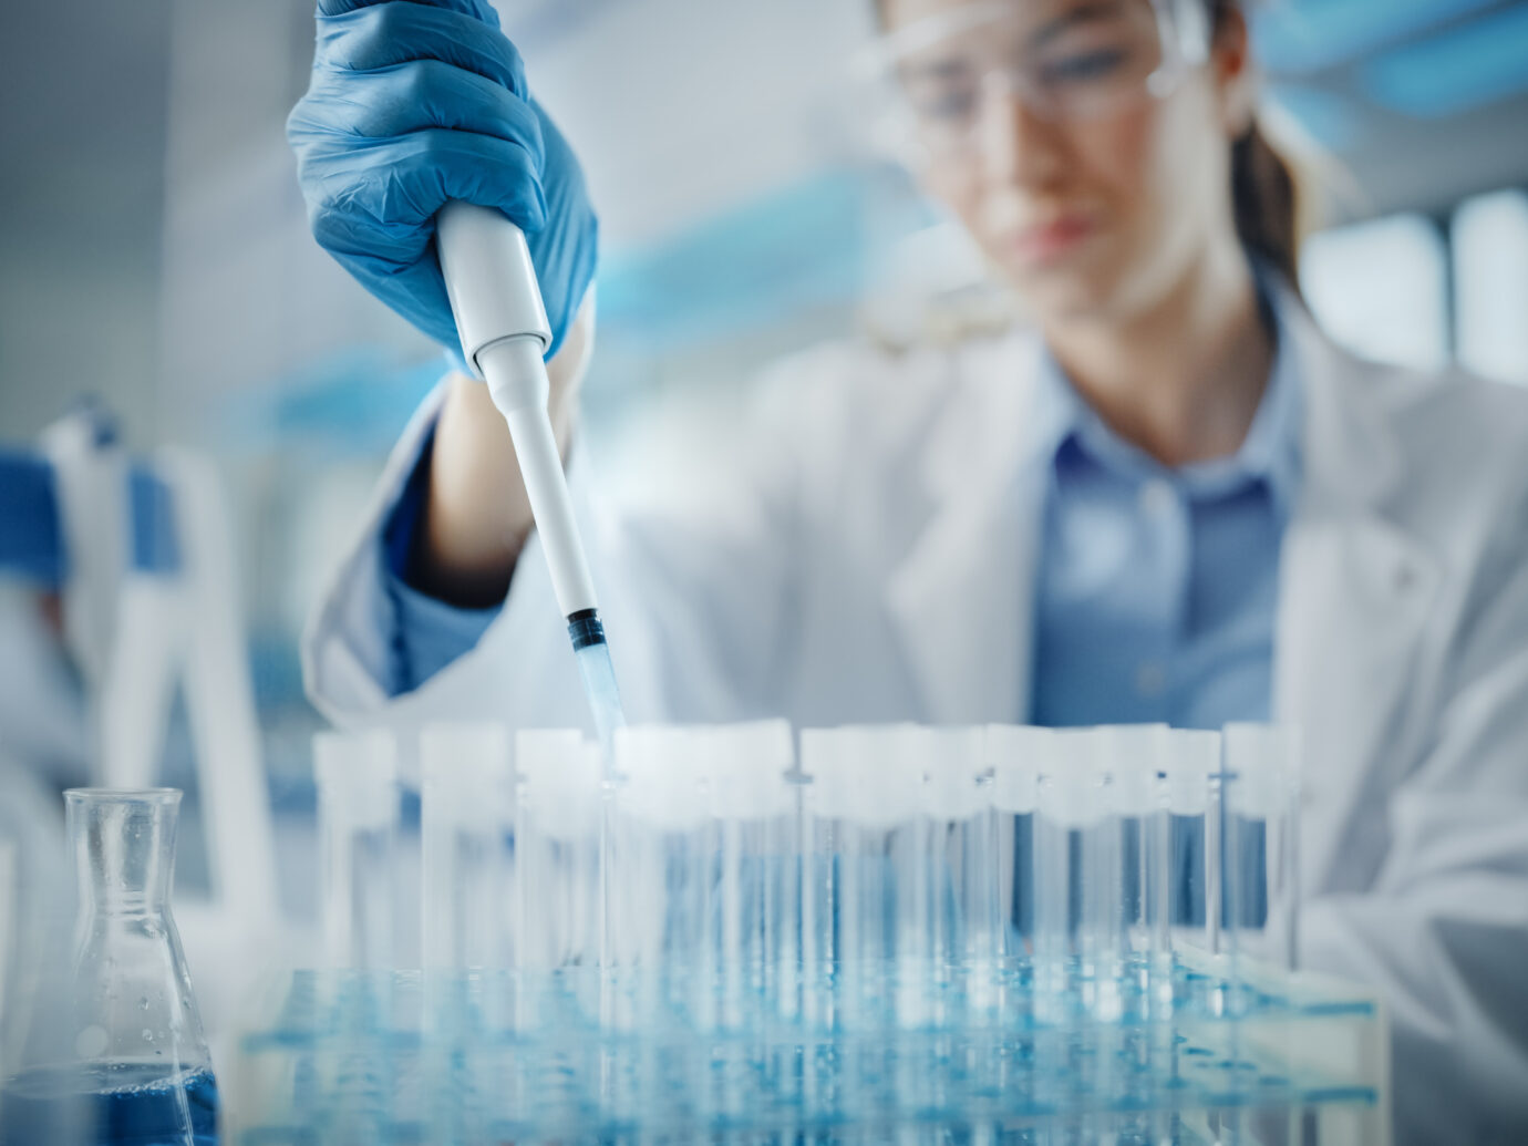
<instances>
[{"instance_id":1,"label":"white micropipette with dark ring and clear tip, below glove","mask_svg":"<svg viewBox=\"0 0 1528 1146\"><path fill-rule=\"evenodd\" d=\"M509 423L552 588L568 623L608 761L611 738L625 718L547 413L550 384L542 354L552 345L552 325L530 248L524 232L500 211L461 202L446 203L435 215L435 246L461 353L487 382L494 406Z\"/></svg>"}]
</instances>

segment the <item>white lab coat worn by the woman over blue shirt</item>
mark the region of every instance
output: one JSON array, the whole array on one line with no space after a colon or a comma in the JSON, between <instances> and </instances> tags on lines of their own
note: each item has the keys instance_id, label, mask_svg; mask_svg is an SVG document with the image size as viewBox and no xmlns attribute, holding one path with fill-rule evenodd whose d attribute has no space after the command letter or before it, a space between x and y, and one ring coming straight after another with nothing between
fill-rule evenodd
<instances>
[{"instance_id":1,"label":"white lab coat worn by the woman over blue shirt","mask_svg":"<svg viewBox=\"0 0 1528 1146\"><path fill-rule=\"evenodd\" d=\"M1273 709L1306 733L1303 960L1389 999L1403 1140L1528 1141L1528 394L1358 362L1280 310L1305 410ZM591 518L628 712L1022 721L1038 353L814 351L715 512ZM379 520L437 402L313 619L312 695L344 724L585 723L535 541L475 651L393 700L365 668Z\"/></svg>"}]
</instances>

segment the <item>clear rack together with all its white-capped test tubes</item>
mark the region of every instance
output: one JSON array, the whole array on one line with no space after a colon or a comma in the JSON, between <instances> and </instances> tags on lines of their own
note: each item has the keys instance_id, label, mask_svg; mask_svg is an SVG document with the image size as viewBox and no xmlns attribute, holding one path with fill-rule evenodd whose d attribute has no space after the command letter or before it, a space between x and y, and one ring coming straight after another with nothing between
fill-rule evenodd
<instances>
[{"instance_id":1,"label":"clear rack together with all its white-capped test tubes","mask_svg":"<svg viewBox=\"0 0 1528 1146\"><path fill-rule=\"evenodd\" d=\"M341 963L274 984L231 1141L1389 1140L1381 1007L1294 967L1288 730L422 746L425 970L367 938L391 752L329 738Z\"/></svg>"}]
</instances>

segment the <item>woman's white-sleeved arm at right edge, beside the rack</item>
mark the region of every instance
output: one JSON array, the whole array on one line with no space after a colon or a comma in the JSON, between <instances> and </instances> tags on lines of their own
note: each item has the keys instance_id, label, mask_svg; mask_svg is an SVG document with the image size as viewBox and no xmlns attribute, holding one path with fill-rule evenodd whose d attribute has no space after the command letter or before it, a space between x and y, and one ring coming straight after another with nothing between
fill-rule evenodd
<instances>
[{"instance_id":1,"label":"woman's white-sleeved arm at right edge, beside the rack","mask_svg":"<svg viewBox=\"0 0 1528 1146\"><path fill-rule=\"evenodd\" d=\"M1311 967L1378 986L1398 1141L1528 1141L1528 536L1484 567L1372 892L1308 905Z\"/></svg>"}]
</instances>

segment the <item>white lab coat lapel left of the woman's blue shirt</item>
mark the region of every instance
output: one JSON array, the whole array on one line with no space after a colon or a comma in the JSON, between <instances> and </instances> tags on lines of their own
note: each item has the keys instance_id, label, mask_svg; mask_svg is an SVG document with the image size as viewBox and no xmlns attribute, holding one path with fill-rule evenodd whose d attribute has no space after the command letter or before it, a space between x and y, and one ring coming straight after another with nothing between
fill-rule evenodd
<instances>
[{"instance_id":1,"label":"white lab coat lapel left of the woman's blue shirt","mask_svg":"<svg viewBox=\"0 0 1528 1146\"><path fill-rule=\"evenodd\" d=\"M1013 335L961 351L931 426L923 481L934 504L892 571L886 608L923 720L1022 720L1028 709L1036 538L1044 480L1025 432L1039 364Z\"/></svg>"}]
</instances>

